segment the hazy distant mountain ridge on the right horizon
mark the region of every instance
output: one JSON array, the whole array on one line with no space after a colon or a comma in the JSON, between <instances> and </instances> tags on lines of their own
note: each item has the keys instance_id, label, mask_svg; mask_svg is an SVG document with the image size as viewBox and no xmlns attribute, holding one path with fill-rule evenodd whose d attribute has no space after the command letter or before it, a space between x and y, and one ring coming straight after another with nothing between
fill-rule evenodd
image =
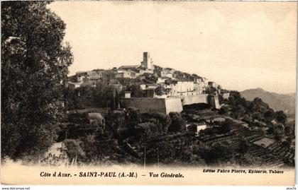
<instances>
[{"instance_id":1,"label":"hazy distant mountain ridge on the right horizon","mask_svg":"<svg viewBox=\"0 0 298 190\"><path fill-rule=\"evenodd\" d=\"M250 101L255 97L260 97L263 102L266 102L275 111L282 110L288 115L292 115L295 112L295 93L277 94L267 92L262 88L255 88L244 90L241 92L241 95Z\"/></svg>"}]
</instances>

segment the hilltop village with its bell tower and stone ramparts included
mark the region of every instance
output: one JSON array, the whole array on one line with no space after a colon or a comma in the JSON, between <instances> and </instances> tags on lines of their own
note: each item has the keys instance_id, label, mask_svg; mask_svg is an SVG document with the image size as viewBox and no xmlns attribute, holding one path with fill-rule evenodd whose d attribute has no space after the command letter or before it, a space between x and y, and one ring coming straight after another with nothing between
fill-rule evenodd
<instances>
[{"instance_id":1,"label":"hilltop village with its bell tower and stone ramparts included","mask_svg":"<svg viewBox=\"0 0 298 190\"><path fill-rule=\"evenodd\" d=\"M143 52L143 61L138 65L77 72L70 77L68 86L96 87L99 83L111 85L121 93L117 107L136 107L140 112L182 112L183 105L197 103L219 109L219 95L224 99L229 96L207 78L153 65L149 52Z\"/></svg>"}]
</instances>

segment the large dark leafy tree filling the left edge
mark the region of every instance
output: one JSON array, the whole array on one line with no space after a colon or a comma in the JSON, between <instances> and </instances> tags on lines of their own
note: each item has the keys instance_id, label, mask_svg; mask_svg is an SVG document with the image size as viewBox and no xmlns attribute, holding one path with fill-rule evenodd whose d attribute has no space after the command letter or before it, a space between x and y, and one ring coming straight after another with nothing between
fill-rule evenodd
<instances>
[{"instance_id":1,"label":"large dark leafy tree filling the left edge","mask_svg":"<svg viewBox=\"0 0 298 190\"><path fill-rule=\"evenodd\" d=\"M47 4L1 2L2 158L43 153L63 117L72 53L65 23Z\"/></svg>"}]
</instances>

